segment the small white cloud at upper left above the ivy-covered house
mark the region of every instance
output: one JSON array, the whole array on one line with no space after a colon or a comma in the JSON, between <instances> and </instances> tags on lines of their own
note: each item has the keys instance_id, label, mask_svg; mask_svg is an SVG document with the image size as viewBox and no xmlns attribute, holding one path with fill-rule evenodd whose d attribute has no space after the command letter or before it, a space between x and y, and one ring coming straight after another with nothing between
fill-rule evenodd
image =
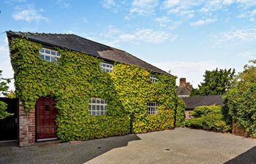
<instances>
[{"instance_id":1,"label":"small white cloud at upper left above the ivy-covered house","mask_svg":"<svg viewBox=\"0 0 256 164\"><path fill-rule=\"evenodd\" d=\"M45 20L48 21L48 18L43 17L36 9L33 9L31 7L26 9L17 9L13 14L12 17L14 20L25 20L27 22L32 21L41 21Z\"/></svg>"}]
</instances>

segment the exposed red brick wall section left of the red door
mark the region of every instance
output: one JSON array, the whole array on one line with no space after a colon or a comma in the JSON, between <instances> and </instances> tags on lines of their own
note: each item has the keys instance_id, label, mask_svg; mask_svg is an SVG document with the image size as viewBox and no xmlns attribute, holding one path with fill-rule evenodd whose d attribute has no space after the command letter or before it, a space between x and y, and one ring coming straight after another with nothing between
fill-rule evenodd
<instances>
[{"instance_id":1,"label":"exposed red brick wall section left of the red door","mask_svg":"<svg viewBox=\"0 0 256 164\"><path fill-rule=\"evenodd\" d=\"M19 146L26 147L35 144L36 141L35 109L29 115L23 107L23 102L19 101Z\"/></svg>"}]
</instances>

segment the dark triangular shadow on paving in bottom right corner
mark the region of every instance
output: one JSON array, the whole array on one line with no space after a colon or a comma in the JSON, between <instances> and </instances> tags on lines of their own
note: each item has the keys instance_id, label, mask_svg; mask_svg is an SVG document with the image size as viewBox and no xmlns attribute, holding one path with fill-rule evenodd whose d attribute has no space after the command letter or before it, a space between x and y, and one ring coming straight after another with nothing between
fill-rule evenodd
<instances>
[{"instance_id":1,"label":"dark triangular shadow on paving in bottom right corner","mask_svg":"<svg viewBox=\"0 0 256 164\"><path fill-rule=\"evenodd\" d=\"M225 164L256 164L256 147L252 147Z\"/></svg>"}]
</instances>

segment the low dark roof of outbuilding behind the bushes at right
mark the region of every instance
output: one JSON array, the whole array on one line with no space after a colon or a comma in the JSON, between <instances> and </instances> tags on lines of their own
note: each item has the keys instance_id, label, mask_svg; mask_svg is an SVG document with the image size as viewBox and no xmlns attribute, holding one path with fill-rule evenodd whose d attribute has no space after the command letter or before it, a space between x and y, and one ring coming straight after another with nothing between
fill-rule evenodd
<instances>
[{"instance_id":1,"label":"low dark roof of outbuilding behind the bushes at right","mask_svg":"<svg viewBox=\"0 0 256 164\"><path fill-rule=\"evenodd\" d=\"M197 106L224 106L222 95L204 95L189 98L182 98L186 104L186 109L195 109Z\"/></svg>"}]
</instances>

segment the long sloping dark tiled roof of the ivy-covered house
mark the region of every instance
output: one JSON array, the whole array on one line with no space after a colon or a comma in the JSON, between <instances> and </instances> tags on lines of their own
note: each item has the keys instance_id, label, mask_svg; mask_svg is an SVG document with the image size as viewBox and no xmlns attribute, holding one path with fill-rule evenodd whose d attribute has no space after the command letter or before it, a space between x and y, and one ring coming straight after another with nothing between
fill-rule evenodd
<instances>
[{"instance_id":1,"label":"long sloping dark tiled roof of the ivy-covered house","mask_svg":"<svg viewBox=\"0 0 256 164\"><path fill-rule=\"evenodd\" d=\"M78 52L85 52L86 54L93 55L97 58L105 60L112 60L118 63L134 64L148 71L154 71L159 74L167 74L149 63L146 63L134 55L129 54L123 50L110 47L105 44L85 39L75 34L39 34L30 32L15 32L7 31L8 37L21 37L26 36L29 40L39 42L51 47L67 48Z\"/></svg>"}]
</instances>

